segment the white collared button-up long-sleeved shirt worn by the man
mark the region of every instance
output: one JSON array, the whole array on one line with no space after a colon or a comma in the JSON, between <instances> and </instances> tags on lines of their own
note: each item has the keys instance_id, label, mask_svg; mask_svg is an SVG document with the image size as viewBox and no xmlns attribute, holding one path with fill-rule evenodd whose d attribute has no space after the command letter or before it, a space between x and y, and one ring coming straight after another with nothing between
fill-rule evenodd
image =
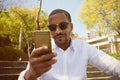
<instances>
[{"instance_id":1,"label":"white collared button-up long-sleeved shirt worn by the man","mask_svg":"<svg viewBox=\"0 0 120 80\"><path fill-rule=\"evenodd\" d=\"M106 73L120 76L120 61L84 41L71 40L70 47L65 51L53 42L52 51L57 53L57 63L37 80L87 80L88 63ZM25 71L21 72L18 80L24 80L25 72L28 69L29 65Z\"/></svg>"}]
</instances>

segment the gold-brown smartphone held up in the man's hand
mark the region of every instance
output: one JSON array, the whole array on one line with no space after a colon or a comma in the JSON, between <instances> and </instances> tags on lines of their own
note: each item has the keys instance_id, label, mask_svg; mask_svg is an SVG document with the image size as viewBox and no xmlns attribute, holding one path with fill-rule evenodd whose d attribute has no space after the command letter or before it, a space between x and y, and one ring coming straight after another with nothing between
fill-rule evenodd
<instances>
[{"instance_id":1,"label":"gold-brown smartphone held up in the man's hand","mask_svg":"<svg viewBox=\"0 0 120 80\"><path fill-rule=\"evenodd\" d=\"M36 30L32 33L32 40L35 48L39 48L41 46L47 46L48 52L52 52L51 48L51 36L49 31L41 31Z\"/></svg>"}]
</instances>

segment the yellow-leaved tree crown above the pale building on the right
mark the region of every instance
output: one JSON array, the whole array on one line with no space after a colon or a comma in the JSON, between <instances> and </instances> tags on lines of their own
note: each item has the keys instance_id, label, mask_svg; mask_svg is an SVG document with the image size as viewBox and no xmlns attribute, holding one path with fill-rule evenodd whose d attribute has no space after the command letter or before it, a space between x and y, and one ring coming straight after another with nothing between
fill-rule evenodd
<instances>
[{"instance_id":1,"label":"yellow-leaved tree crown above the pale building on the right","mask_svg":"<svg viewBox=\"0 0 120 80\"><path fill-rule=\"evenodd\" d=\"M120 35L120 0L84 0L78 17L99 36L111 32Z\"/></svg>"}]
</instances>

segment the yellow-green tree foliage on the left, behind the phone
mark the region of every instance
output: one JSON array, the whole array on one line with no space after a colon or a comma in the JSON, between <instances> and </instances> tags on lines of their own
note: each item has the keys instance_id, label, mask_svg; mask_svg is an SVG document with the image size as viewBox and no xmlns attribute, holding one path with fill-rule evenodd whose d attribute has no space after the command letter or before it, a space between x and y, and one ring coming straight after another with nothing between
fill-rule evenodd
<instances>
[{"instance_id":1,"label":"yellow-green tree foliage on the left, behind the phone","mask_svg":"<svg viewBox=\"0 0 120 80\"><path fill-rule=\"evenodd\" d=\"M8 12L0 14L0 35L9 35L14 45L18 45L20 28L22 27L23 44L29 44L29 34L35 30L36 14L38 8L28 9L20 7L12 7ZM40 25L42 30L47 29L47 13L41 11Z\"/></svg>"}]
</instances>

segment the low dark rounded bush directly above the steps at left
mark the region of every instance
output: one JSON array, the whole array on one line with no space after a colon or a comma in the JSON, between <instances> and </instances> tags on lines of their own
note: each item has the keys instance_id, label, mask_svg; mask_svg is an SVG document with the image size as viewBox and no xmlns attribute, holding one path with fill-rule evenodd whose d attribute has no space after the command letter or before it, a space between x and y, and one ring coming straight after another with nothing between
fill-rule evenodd
<instances>
[{"instance_id":1,"label":"low dark rounded bush directly above the steps at left","mask_svg":"<svg viewBox=\"0 0 120 80\"><path fill-rule=\"evenodd\" d=\"M0 60L16 61L24 55L25 53L22 50L15 49L11 46L0 47Z\"/></svg>"}]
</instances>

